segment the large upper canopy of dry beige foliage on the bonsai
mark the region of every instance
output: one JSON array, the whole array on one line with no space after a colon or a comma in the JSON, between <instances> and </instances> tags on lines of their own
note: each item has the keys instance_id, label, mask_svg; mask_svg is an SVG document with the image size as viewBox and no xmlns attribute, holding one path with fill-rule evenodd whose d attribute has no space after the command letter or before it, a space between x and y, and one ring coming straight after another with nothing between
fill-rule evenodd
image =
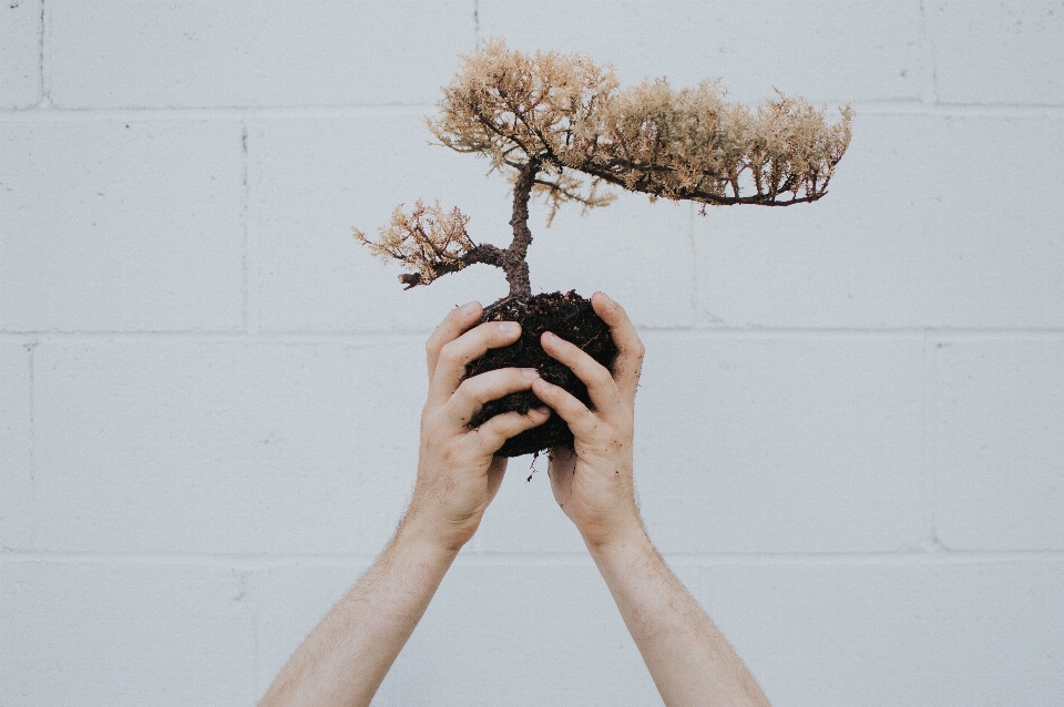
<instances>
[{"instance_id":1,"label":"large upper canopy of dry beige foliage on the bonsai","mask_svg":"<svg viewBox=\"0 0 1064 707\"><path fill-rule=\"evenodd\" d=\"M823 110L781 93L750 109L712 81L620 89L611 66L582 54L525 54L500 40L466 57L443 95L429 121L440 142L497 170L540 162L534 192L554 208L608 203L602 182L704 204L815 201L850 140L849 107L828 125Z\"/></svg>"}]
</instances>

